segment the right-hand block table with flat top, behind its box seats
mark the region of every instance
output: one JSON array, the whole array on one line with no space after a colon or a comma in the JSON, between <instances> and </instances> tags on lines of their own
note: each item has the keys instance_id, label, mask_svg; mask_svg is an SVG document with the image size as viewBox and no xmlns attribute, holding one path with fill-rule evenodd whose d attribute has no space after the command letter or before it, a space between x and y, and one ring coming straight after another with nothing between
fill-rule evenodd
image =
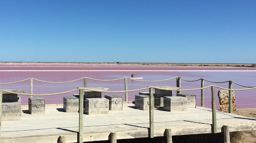
<instances>
[{"instance_id":1,"label":"right-hand block table with flat top, behind its box seats","mask_svg":"<svg viewBox=\"0 0 256 143\"><path fill-rule=\"evenodd\" d=\"M167 89L167 90L179 90L180 89L177 87L170 87L170 86L159 86L157 88ZM163 97L164 96L173 96L173 91L165 91L165 90L155 89L155 105L163 107Z\"/></svg>"}]
</instances>

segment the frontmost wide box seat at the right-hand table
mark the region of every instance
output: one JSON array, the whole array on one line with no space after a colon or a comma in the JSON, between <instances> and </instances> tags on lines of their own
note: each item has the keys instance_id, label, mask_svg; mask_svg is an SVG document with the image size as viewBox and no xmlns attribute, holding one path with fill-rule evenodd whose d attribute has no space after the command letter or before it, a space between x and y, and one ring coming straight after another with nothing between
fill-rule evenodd
<instances>
[{"instance_id":1,"label":"frontmost wide box seat at the right-hand table","mask_svg":"<svg viewBox=\"0 0 256 143\"><path fill-rule=\"evenodd\" d=\"M187 111L187 98L165 96L163 107L165 111Z\"/></svg>"}]
</instances>

